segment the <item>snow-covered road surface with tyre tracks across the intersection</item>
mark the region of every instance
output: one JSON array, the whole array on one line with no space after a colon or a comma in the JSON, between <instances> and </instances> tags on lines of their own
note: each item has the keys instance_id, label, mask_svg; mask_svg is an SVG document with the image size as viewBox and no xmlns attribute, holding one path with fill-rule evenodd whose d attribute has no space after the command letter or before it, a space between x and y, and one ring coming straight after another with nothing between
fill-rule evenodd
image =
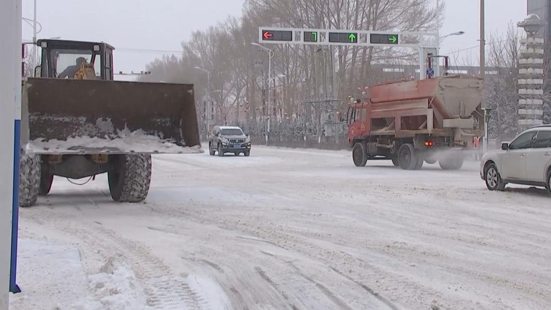
<instances>
[{"instance_id":1,"label":"snow-covered road surface with tyre tracks across the intersection","mask_svg":"<svg viewBox=\"0 0 551 310\"><path fill-rule=\"evenodd\" d=\"M551 199L346 151L159 155L143 204L57 178L11 309L550 309Z\"/></svg>"}]
</instances>

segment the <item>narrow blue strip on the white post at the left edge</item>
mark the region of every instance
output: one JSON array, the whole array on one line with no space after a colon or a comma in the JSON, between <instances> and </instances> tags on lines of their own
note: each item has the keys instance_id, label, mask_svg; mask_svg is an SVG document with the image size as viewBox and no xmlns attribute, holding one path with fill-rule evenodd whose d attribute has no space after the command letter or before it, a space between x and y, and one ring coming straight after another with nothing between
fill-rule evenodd
<instances>
[{"instance_id":1,"label":"narrow blue strip on the white post at the left edge","mask_svg":"<svg viewBox=\"0 0 551 310\"><path fill-rule=\"evenodd\" d=\"M12 256L10 258L9 291L20 293L15 283L17 272L17 237L19 227L19 159L21 156L21 120L15 120L15 141L13 145L13 211L12 211Z\"/></svg>"}]
</instances>

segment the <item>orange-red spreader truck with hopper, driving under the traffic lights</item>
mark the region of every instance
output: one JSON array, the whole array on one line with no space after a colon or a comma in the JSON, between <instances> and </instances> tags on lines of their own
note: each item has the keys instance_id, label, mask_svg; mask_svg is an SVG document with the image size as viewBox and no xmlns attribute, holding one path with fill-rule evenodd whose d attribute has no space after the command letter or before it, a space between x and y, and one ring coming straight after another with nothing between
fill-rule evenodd
<instances>
[{"instance_id":1,"label":"orange-red spreader truck with hopper, driving under the traffic lights","mask_svg":"<svg viewBox=\"0 0 551 310\"><path fill-rule=\"evenodd\" d=\"M406 170L423 162L460 169L464 150L484 133L482 79L466 75L398 81L370 88L348 108L348 141L358 167L391 159Z\"/></svg>"}]
</instances>

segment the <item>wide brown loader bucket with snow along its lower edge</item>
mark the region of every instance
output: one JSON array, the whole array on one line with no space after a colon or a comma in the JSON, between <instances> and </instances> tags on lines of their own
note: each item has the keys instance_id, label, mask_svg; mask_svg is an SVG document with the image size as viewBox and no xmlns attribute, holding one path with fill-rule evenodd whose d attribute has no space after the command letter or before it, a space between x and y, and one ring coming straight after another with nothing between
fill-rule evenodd
<instances>
[{"instance_id":1,"label":"wide brown loader bucket with snow along its lower edge","mask_svg":"<svg viewBox=\"0 0 551 310\"><path fill-rule=\"evenodd\" d=\"M29 78L22 101L28 152L202 152L191 84Z\"/></svg>"}]
</instances>

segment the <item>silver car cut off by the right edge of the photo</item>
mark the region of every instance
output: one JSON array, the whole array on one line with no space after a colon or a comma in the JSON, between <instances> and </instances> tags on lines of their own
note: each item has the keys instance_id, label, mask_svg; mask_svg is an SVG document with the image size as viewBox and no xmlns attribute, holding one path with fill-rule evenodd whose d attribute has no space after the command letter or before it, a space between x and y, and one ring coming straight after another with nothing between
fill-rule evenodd
<instances>
[{"instance_id":1,"label":"silver car cut off by the right edge of the photo","mask_svg":"<svg viewBox=\"0 0 551 310\"><path fill-rule=\"evenodd\" d=\"M480 162L480 178L489 190L503 190L507 183L542 186L551 195L551 125L535 126L503 142Z\"/></svg>"}]
</instances>

